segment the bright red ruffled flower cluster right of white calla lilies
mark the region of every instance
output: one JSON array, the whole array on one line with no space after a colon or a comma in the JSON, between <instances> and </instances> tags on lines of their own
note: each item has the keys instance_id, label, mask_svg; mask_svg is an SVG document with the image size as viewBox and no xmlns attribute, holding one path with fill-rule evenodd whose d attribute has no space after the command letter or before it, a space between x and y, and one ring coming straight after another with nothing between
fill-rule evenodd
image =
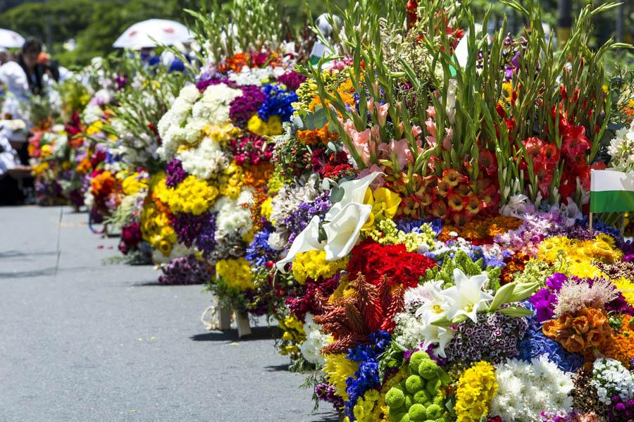
<instances>
[{"instance_id":1,"label":"bright red ruffled flower cluster right of white calla lilies","mask_svg":"<svg viewBox=\"0 0 634 422\"><path fill-rule=\"evenodd\" d=\"M392 284L416 287L418 279L435 266L431 259L407 252L404 244L381 245L365 240L352 249L347 270L351 278L361 273L373 285L378 285L387 276Z\"/></svg>"}]
</instances>

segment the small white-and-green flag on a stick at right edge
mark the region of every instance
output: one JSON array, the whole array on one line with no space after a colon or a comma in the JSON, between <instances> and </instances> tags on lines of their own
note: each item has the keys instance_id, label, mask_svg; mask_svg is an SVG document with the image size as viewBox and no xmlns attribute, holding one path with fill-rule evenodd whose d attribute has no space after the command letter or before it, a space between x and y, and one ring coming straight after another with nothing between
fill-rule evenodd
<instances>
[{"instance_id":1,"label":"small white-and-green flag on a stick at right edge","mask_svg":"<svg viewBox=\"0 0 634 422\"><path fill-rule=\"evenodd\" d=\"M592 170L590 173L590 212L634 211L634 173Z\"/></svg>"}]
</instances>

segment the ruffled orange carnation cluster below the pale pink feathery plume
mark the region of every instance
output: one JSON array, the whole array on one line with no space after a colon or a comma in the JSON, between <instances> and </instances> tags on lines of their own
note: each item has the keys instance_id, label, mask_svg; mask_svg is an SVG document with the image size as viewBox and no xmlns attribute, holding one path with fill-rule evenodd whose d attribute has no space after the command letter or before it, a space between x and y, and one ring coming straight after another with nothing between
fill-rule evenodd
<instances>
[{"instance_id":1,"label":"ruffled orange carnation cluster below the pale pink feathery plume","mask_svg":"<svg viewBox=\"0 0 634 422\"><path fill-rule=\"evenodd\" d=\"M564 314L546 321L542 331L568 352L583 354L589 361L594 361L592 351L602 349L613 333L607 316L595 308L583 308L575 316Z\"/></svg>"}]
</instances>

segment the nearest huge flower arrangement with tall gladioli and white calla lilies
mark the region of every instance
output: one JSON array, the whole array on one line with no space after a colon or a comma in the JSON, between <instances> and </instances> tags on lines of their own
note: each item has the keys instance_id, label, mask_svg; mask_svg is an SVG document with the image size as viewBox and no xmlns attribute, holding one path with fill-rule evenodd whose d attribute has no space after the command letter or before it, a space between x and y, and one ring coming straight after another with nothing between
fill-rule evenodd
<instances>
[{"instance_id":1,"label":"nearest huge flower arrangement with tall gladioli and white calla lilies","mask_svg":"<svg viewBox=\"0 0 634 422\"><path fill-rule=\"evenodd\" d=\"M634 249L585 215L590 170L613 165L583 40L611 6L554 56L537 29L483 42L466 6L379 3L298 68L251 207L245 258L280 353L345 421L627 420ZM540 28L533 2L509 6ZM460 42L478 56L459 64Z\"/></svg>"}]
</instances>

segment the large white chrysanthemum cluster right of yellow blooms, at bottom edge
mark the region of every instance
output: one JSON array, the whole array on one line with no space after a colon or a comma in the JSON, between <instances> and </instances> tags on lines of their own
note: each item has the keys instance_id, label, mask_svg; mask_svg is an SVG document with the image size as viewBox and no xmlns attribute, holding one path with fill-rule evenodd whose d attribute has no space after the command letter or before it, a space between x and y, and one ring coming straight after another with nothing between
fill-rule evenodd
<instances>
[{"instance_id":1,"label":"large white chrysanthemum cluster right of yellow blooms, at bottom edge","mask_svg":"<svg viewBox=\"0 0 634 422\"><path fill-rule=\"evenodd\" d=\"M573 373L561 371L545 356L530 362L509 359L495 368L498 389L489 413L503 421L539 422L542 411L572 409Z\"/></svg>"}]
</instances>

